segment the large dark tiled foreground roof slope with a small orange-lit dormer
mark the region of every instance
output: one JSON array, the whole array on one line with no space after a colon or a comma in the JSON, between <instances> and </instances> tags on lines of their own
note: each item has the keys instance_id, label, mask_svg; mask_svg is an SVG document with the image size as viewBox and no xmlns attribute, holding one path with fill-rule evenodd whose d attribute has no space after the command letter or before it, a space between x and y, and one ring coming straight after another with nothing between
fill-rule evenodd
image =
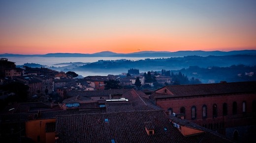
<instances>
[{"instance_id":1,"label":"large dark tiled foreground roof slope with a small orange-lit dormer","mask_svg":"<svg viewBox=\"0 0 256 143\"><path fill-rule=\"evenodd\" d=\"M149 121L154 123L154 135L148 135L145 130L145 122ZM190 142L170 125L161 110L58 116L56 133L59 137L57 143L111 143L111 140L115 143Z\"/></svg>"}]
</instances>

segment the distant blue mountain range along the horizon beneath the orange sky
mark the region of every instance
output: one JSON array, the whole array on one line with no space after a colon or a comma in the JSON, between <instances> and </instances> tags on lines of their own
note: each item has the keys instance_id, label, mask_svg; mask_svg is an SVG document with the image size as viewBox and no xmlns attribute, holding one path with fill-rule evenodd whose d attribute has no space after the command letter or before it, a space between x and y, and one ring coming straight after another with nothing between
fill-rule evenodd
<instances>
[{"instance_id":1,"label":"distant blue mountain range along the horizon beneath the orange sky","mask_svg":"<svg viewBox=\"0 0 256 143\"><path fill-rule=\"evenodd\" d=\"M186 50L186 51L140 51L133 53L115 53L111 51L102 51L93 54L83 54L83 53L48 53L48 54L33 54L33 55L23 55L23 54L0 54L0 57L184 57L184 56L225 56L225 55L256 55L256 50L233 50L233 51L202 51L202 50Z\"/></svg>"}]
</instances>

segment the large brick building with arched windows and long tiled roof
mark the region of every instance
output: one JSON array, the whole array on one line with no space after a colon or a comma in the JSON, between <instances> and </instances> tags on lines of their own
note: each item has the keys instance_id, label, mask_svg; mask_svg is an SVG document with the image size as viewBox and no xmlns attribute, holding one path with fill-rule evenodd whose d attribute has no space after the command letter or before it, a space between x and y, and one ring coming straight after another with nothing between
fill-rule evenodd
<instances>
[{"instance_id":1,"label":"large brick building with arched windows and long tiled roof","mask_svg":"<svg viewBox=\"0 0 256 143\"><path fill-rule=\"evenodd\" d=\"M222 134L256 125L256 82L165 86L150 98L169 114Z\"/></svg>"}]
</instances>

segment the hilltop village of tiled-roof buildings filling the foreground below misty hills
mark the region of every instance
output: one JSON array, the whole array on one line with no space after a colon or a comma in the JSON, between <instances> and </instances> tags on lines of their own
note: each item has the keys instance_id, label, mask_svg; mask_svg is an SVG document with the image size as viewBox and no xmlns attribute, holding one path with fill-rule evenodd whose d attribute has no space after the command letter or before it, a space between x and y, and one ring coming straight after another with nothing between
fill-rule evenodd
<instances>
[{"instance_id":1,"label":"hilltop village of tiled-roof buildings filling the foreground below misty hills","mask_svg":"<svg viewBox=\"0 0 256 143\"><path fill-rule=\"evenodd\" d=\"M72 71L16 68L14 62L1 58L0 140L11 143L254 140L256 81L200 84L195 79L193 84L178 85L162 73L166 71L155 74L130 69L121 75L76 78L78 75Z\"/></svg>"}]
</instances>

